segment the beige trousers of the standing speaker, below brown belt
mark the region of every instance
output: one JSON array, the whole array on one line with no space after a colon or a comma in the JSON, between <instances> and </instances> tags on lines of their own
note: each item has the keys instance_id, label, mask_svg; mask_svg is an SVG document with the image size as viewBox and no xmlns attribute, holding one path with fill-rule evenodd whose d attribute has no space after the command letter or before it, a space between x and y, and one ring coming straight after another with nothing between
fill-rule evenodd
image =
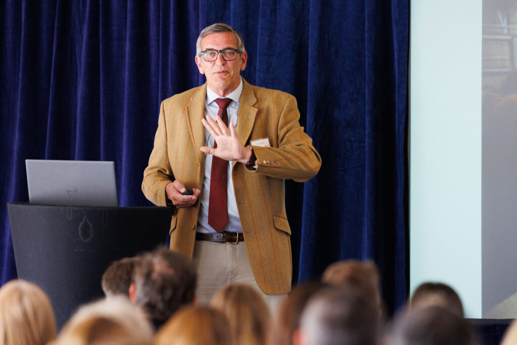
<instances>
[{"instance_id":1,"label":"beige trousers of the standing speaker, below brown belt","mask_svg":"<svg viewBox=\"0 0 517 345\"><path fill-rule=\"evenodd\" d=\"M210 302L219 289L233 282L249 284L257 289L271 311L276 311L279 302L286 296L267 295L258 287L244 243L196 241L193 261L197 269L196 295L199 304Z\"/></svg>"}]
</instances>

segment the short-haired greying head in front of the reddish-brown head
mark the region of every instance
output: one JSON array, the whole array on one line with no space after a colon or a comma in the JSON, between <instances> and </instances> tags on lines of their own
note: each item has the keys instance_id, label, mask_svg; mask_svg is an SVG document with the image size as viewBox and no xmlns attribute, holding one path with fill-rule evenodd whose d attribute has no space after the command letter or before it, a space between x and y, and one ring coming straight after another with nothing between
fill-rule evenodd
<instances>
[{"instance_id":1,"label":"short-haired greying head in front of the reddish-brown head","mask_svg":"<svg viewBox=\"0 0 517 345\"><path fill-rule=\"evenodd\" d=\"M368 294L334 287L311 298L303 310L299 333L308 345L373 345L378 323L378 309Z\"/></svg>"}]
</instances>

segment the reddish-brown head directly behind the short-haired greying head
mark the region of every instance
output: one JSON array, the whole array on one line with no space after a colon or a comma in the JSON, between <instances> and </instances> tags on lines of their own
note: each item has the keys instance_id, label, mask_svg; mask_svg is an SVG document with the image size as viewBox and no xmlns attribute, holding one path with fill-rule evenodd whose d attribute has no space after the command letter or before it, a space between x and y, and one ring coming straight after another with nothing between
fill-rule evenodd
<instances>
[{"instance_id":1,"label":"reddish-brown head directly behind the short-haired greying head","mask_svg":"<svg viewBox=\"0 0 517 345\"><path fill-rule=\"evenodd\" d=\"M366 293L376 304L378 315L382 314L382 298L379 272L372 261L344 260L328 266L322 281L333 286L357 288Z\"/></svg>"}]
</instances>

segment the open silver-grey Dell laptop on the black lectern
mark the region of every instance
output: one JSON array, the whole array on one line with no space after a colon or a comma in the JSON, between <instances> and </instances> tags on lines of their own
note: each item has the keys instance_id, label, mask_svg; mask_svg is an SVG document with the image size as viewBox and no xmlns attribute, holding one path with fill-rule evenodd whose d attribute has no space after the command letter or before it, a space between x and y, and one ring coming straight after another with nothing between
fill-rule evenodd
<instances>
[{"instance_id":1,"label":"open silver-grey Dell laptop on the black lectern","mask_svg":"<svg viewBox=\"0 0 517 345\"><path fill-rule=\"evenodd\" d=\"M26 159L29 203L118 206L115 163Z\"/></svg>"}]
</instances>

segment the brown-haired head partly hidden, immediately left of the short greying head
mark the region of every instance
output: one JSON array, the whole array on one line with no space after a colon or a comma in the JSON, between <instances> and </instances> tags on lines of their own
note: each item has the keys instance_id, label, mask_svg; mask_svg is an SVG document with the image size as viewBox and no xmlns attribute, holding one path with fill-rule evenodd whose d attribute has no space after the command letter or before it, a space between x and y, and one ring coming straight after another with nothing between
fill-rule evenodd
<instances>
[{"instance_id":1,"label":"brown-haired head partly hidden, immediately left of the short greying head","mask_svg":"<svg viewBox=\"0 0 517 345\"><path fill-rule=\"evenodd\" d=\"M278 309L273 326L272 343L276 345L292 345L293 334L300 327L300 317L303 308L314 293L327 284L314 281L302 283L294 288L285 298Z\"/></svg>"}]
</instances>

